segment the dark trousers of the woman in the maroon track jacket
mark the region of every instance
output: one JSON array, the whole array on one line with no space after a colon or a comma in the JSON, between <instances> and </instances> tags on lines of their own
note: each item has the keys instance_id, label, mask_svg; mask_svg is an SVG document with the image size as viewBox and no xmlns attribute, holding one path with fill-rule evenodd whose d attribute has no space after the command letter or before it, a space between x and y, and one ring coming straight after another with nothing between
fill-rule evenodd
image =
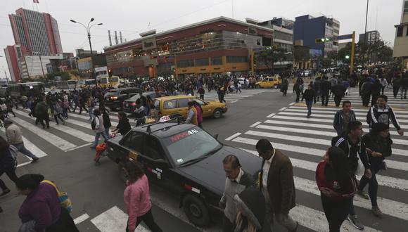
<instances>
[{"instance_id":1,"label":"dark trousers of the woman in the maroon track jacket","mask_svg":"<svg viewBox=\"0 0 408 232\"><path fill-rule=\"evenodd\" d=\"M321 193L321 205L323 206L324 214L329 222L330 232L340 231L340 226L347 218L350 211L352 198L345 200L330 200L323 193Z\"/></svg>"}]
</instances>

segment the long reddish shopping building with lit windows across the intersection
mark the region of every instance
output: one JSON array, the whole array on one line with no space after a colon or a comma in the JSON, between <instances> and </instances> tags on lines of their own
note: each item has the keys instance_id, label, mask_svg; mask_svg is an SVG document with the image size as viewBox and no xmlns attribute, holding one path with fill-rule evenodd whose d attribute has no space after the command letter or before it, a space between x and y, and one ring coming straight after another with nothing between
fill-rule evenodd
<instances>
[{"instance_id":1,"label":"long reddish shopping building with lit windows across the intersection","mask_svg":"<svg viewBox=\"0 0 408 232\"><path fill-rule=\"evenodd\" d=\"M251 71L251 51L272 46L274 30L251 20L219 17L105 48L108 69L121 77L208 77Z\"/></svg>"}]
</instances>

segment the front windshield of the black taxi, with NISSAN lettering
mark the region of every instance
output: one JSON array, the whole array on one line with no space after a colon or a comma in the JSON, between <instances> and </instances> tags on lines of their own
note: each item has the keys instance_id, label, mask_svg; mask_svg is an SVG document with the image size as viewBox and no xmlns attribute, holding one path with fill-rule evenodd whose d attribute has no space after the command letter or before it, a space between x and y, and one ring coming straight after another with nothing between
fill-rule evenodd
<instances>
[{"instance_id":1,"label":"front windshield of the black taxi, with NISSAN lettering","mask_svg":"<svg viewBox=\"0 0 408 232\"><path fill-rule=\"evenodd\" d=\"M208 155L221 144L199 128L183 131L164 139L170 157L177 165Z\"/></svg>"}]
</instances>

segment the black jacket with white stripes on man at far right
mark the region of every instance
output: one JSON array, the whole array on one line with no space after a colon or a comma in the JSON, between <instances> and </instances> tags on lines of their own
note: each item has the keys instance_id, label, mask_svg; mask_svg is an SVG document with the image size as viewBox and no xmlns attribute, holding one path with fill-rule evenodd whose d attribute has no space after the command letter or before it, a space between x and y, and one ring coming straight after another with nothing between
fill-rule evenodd
<instances>
[{"instance_id":1,"label":"black jacket with white stripes on man at far right","mask_svg":"<svg viewBox=\"0 0 408 232\"><path fill-rule=\"evenodd\" d=\"M383 109L378 108L377 105L371 106L369 112L367 112L367 123L371 127L374 123L382 122L383 124L390 125L390 121L393 122L395 129L401 129L400 123L398 123L395 112L390 105L385 105Z\"/></svg>"}]
</instances>

